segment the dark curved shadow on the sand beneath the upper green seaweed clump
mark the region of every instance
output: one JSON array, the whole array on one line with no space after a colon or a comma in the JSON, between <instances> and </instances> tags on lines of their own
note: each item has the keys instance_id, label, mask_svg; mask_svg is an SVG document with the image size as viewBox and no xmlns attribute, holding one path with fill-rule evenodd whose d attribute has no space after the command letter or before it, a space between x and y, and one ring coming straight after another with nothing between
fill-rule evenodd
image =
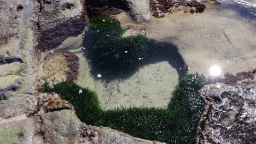
<instances>
[{"instance_id":1,"label":"dark curved shadow on the sand beneath the upper green seaweed clump","mask_svg":"<svg viewBox=\"0 0 256 144\"><path fill-rule=\"evenodd\" d=\"M87 43L89 44L89 43ZM132 75L139 71L139 69L149 65L156 64L158 62L168 62L171 67L176 69L179 79L186 73L186 66L184 60L180 53L178 52L178 47L169 43L159 43L153 40L149 41L149 52L146 56L142 57L140 61L132 69L106 69L102 68L101 65L95 65L91 62L92 53L88 45L86 45L85 57L89 59L89 69L91 75L94 79L99 79L97 74L101 74L102 81L112 81L112 80L125 80L129 79ZM169 74L166 72L166 74Z\"/></svg>"}]
</instances>

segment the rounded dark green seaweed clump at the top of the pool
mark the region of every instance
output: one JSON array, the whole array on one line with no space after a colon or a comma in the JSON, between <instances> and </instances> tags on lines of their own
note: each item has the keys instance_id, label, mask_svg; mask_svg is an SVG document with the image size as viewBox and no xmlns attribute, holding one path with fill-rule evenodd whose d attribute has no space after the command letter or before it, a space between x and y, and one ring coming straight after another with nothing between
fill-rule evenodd
<instances>
[{"instance_id":1,"label":"rounded dark green seaweed clump at the top of the pool","mask_svg":"<svg viewBox=\"0 0 256 144\"><path fill-rule=\"evenodd\" d=\"M101 68L131 69L139 57L148 52L147 39L142 35L123 37L120 23L101 14L90 18L91 57Z\"/></svg>"}]
</instances>

